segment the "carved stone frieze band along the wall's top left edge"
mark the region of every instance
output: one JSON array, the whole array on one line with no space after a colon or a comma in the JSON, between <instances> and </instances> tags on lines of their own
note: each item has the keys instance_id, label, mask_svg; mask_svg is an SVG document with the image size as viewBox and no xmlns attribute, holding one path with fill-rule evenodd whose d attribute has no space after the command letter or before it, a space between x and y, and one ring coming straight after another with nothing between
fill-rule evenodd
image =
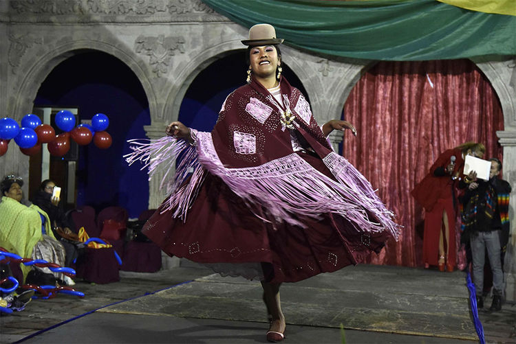
<instances>
[{"instance_id":1,"label":"carved stone frieze band along the wall's top left edge","mask_svg":"<svg viewBox=\"0 0 516 344\"><path fill-rule=\"evenodd\" d=\"M11 0L17 13L27 14L212 14L200 0Z\"/></svg>"}]
</instances>

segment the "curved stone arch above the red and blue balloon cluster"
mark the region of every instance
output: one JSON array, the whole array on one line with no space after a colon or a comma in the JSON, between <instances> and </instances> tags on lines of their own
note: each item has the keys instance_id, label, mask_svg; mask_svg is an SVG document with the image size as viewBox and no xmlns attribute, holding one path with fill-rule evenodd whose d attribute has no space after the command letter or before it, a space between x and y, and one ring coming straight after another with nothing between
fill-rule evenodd
<instances>
[{"instance_id":1,"label":"curved stone arch above the red and blue balloon cluster","mask_svg":"<svg viewBox=\"0 0 516 344\"><path fill-rule=\"evenodd\" d=\"M156 112L155 95L147 74L138 65L138 61L134 58L133 54L111 43L89 40L69 41L58 45L51 51L47 51L46 54L40 55L29 65L27 73L25 73L23 80L21 80L18 90L19 96L14 103L12 113L30 113L32 111L32 101L36 97L41 83L47 78L52 69L67 58L85 50L102 51L124 62L125 65L135 73L138 80L140 80L145 95L147 95L147 100L149 101L149 111L152 117L152 114Z\"/></svg>"}]
</instances>

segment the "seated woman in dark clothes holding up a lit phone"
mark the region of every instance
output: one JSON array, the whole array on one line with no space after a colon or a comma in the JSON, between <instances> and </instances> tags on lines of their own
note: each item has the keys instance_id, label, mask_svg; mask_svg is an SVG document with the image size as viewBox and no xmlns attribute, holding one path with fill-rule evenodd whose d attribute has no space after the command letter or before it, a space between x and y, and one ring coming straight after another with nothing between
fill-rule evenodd
<instances>
[{"instance_id":1,"label":"seated woman in dark clothes holding up a lit phone","mask_svg":"<svg viewBox=\"0 0 516 344\"><path fill-rule=\"evenodd\" d=\"M41 182L38 192L32 197L32 204L43 209L48 215L54 236L65 246L65 266L70 266L78 257L76 243L80 240L77 234L70 229L65 210L59 203L60 199L52 196L54 187L56 187L56 183L51 179Z\"/></svg>"}]
</instances>

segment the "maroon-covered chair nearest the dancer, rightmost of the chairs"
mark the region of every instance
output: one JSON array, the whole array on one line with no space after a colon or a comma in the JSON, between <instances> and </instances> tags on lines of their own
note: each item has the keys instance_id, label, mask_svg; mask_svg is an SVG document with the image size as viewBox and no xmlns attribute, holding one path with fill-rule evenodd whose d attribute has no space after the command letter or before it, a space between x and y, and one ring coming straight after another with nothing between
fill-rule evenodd
<instances>
[{"instance_id":1,"label":"maroon-covered chair nearest the dancer, rightmost of the chairs","mask_svg":"<svg viewBox=\"0 0 516 344\"><path fill-rule=\"evenodd\" d=\"M144 210L138 220L148 220L156 209ZM161 268L161 249L153 242L130 240L124 251L122 270L138 273L155 273Z\"/></svg>"}]
</instances>

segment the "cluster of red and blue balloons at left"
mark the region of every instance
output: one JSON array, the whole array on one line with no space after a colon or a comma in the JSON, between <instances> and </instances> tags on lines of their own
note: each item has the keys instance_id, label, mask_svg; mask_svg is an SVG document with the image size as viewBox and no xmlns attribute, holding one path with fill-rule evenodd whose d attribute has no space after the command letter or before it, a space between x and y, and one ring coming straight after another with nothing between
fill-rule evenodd
<instances>
[{"instance_id":1,"label":"cluster of red and blue balloons at left","mask_svg":"<svg viewBox=\"0 0 516 344\"><path fill-rule=\"evenodd\" d=\"M75 116L67 110L56 113L56 126L64 133L56 135L49 124L41 124L41 119L36 115L25 115L21 119L21 127L8 117L0 119L0 157L6 154L9 141L19 146L25 155L34 155L40 152L41 144L48 144L50 154L63 157L70 149L70 137L80 146L85 146L93 141L100 149L111 146L111 135L105 131L109 126L109 119L103 113L97 113L92 118L92 125L79 124L75 126Z\"/></svg>"}]
</instances>

